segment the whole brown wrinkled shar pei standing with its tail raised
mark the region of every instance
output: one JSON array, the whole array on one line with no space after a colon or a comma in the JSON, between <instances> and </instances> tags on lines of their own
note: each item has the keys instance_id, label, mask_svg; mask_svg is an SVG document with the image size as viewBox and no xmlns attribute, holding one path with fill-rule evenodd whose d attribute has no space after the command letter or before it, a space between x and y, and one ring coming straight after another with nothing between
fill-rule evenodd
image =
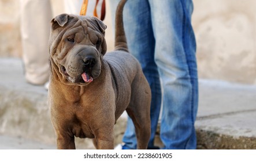
<instances>
[{"instance_id":1,"label":"whole brown wrinkled shar pei standing with its tail raised","mask_svg":"<svg viewBox=\"0 0 256 161\"><path fill-rule=\"evenodd\" d=\"M127 111L138 149L150 138L151 90L129 52L121 1L116 13L115 49L106 53L106 25L96 17L61 14L51 21L49 113L57 148L75 149L75 137L95 148L114 148L114 124Z\"/></svg>"}]
</instances>

